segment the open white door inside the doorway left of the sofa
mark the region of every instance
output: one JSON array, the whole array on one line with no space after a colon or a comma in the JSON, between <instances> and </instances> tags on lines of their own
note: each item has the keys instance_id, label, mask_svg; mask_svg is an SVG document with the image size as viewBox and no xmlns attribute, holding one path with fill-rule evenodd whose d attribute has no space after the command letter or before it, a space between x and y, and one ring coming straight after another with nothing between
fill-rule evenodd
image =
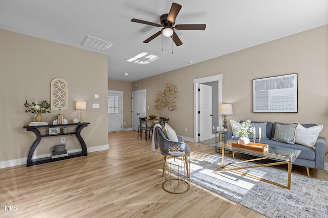
<instances>
[{"instance_id":1,"label":"open white door inside the doorway left of the sofa","mask_svg":"<svg viewBox=\"0 0 328 218\"><path fill-rule=\"evenodd\" d=\"M212 86L199 84L199 141L212 138Z\"/></svg>"}]
</instances>

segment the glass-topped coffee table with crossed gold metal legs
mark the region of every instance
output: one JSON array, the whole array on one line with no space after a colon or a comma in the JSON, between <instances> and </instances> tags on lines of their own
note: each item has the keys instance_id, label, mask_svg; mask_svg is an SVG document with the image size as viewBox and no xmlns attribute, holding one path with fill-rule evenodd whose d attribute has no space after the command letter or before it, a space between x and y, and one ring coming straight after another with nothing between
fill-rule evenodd
<instances>
[{"instance_id":1,"label":"glass-topped coffee table with crossed gold metal legs","mask_svg":"<svg viewBox=\"0 0 328 218\"><path fill-rule=\"evenodd\" d=\"M247 149L243 149L243 148L233 147L232 143L237 143L237 141L229 140L229 141L227 141L227 143L224 143L222 141L222 142L217 142L215 144L211 144L211 146L215 146L219 149L222 149L222 164L221 164L220 168L218 168L214 171L214 173L223 173L223 172L228 172L228 171L234 171L236 173L243 174L248 177L263 181L263 182L267 182L267 183L274 184L274 185L277 185L277 186L280 186L283 188L291 189L292 163L296 160L298 155L301 153L300 150L285 149L285 148L269 146L269 152L262 153L262 152L256 152L256 151L247 150ZM235 152L238 152L238 153L242 153L242 154L256 156L258 158L224 164L224 150L232 151L233 157L234 157ZM274 162L258 164L258 165L253 165L253 166L245 166L245 167L236 167L236 168L229 167L229 165L233 165L233 164L251 162L251 161L256 161L256 160L264 160L264 159L274 160ZM275 166L275 165L281 165L281 164L288 164L287 185L282 185L282 184L279 184L279 183L276 183L273 181L269 181L269 180L266 180L266 179L263 179L263 178L240 171L241 169L248 169L248 168L255 168L255 167L262 167L262 166Z\"/></svg>"}]
</instances>

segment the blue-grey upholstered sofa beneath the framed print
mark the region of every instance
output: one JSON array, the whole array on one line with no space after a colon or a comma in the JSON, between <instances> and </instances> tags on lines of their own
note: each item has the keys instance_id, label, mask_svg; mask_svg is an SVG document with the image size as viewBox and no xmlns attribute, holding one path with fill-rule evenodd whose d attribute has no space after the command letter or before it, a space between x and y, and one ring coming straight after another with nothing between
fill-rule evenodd
<instances>
[{"instance_id":1,"label":"blue-grey upholstered sofa beneath the framed print","mask_svg":"<svg viewBox=\"0 0 328 218\"><path fill-rule=\"evenodd\" d=\"M242 121L241 121L242 122ZM265 121L267 122L267 121ZM252 123L263 123L263 122L254 122ZM283 123L278 123L283 124ZM310 147L302 146L301 144L288 144L284 142L274 141L271 140L275 135L275 125L276 123L267 122L267 137L268 139L261 139L261 143L269 144L269 146L276 146L282 148L293 148L296 150L301 150L302 152L299 154L298 158L295 160L293 164L305 166L306 170L308 171L308 176L310 177L309 168L317 168L323 169L324 168L324 154L325 154L325 138L318 137L315 147L316 149L312 149ZM313 126L317 126L316 124L302 124L303 127L309 128ZM238 140L239 137L233 137L232 131L224 132L224 141L227 140ZM255 142L259 142L256 139Z\"/></svg>"}]
</instances>

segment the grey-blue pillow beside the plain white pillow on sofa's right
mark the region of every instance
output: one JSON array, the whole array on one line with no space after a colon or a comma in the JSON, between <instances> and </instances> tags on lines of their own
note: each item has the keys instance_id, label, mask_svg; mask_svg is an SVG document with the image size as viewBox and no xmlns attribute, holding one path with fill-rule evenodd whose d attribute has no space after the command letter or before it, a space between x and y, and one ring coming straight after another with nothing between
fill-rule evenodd
<instances>
[{"instance_id":1,"label":"grey-blue pillow beside the plain white pillow on sofa's right","mask_svg":"<svg viewBox=\"0 0 328 218\"><path fill-rule=\"evenodd\" d=\"M280 141L289 144L295 144L295 124L278 124L276 123L275 136L271 140Z\"/></svg>"}]
</instances>

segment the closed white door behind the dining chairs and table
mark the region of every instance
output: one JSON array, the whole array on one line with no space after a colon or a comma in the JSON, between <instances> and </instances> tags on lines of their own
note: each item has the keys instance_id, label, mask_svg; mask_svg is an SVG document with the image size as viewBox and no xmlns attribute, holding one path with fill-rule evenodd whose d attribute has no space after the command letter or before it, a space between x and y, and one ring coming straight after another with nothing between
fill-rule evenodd
<instances>
[{"instance_id":1,"label":"closed white door behind the dining chairs and table","mask_svg":"<svg viewBox=\"0 0 328 218\"><path fill-rule=\"evenodd\" d=\"M132 129L138 131L139 117L146 117L146 90L132 92Z\"/></svg>"}]
</instances>

